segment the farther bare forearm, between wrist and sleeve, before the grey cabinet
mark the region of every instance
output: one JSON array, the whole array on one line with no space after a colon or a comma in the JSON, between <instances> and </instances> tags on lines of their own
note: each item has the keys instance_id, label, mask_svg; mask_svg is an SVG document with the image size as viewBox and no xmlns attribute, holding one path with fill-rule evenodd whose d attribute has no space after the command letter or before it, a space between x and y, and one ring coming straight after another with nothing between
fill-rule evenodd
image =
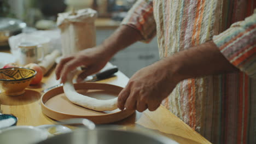
<instances>
[{"instance_id":1,"label":"farther bare forearm, between wrist and sleeve, before the grey cabinet","mask_svg":"<svg viewBox=\"0 0 256 144\"><path fill-rule=\"evenodd\" d=\"M142 35L130 26L121 25L109 38L103 41L101 46L106 50L110 57L125 47L141 40Z\"/></svg>"}]
</instances>

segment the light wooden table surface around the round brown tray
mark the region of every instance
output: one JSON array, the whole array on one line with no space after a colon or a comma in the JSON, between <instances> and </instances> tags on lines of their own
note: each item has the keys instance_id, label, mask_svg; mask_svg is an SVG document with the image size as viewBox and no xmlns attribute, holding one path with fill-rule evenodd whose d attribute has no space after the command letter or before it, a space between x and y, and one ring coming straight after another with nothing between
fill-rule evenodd
<instances>
[{"instance_id":1,"label":"light wooden table surface around the round brown tray","mask_svg":"<svg viewBox=\"0 0 256 144\"><path fill-rule=\"evenodd\" d=\"M115 75L117 76L98 82L124 87L129 81L129 78L120 71ZM43 77L40 85L28 87L24 95L10 97L3 92L0 93L0 108L3 110L3 113L11 113L18 117L17 125L37 126L42 124L53 124L54 120L42 113L40 97L43 89L58 83L59 81L55 80L53 68ZM146 110L143 113L140 113L136 111L136 113L133 113L130 117L113 124L117 124L124 128L150 129L156 131L156 133L170 137L179 143L210 143L181 121L181 119L165 109L164 106L160 106L159 109L153 112Z\"/></svg>"}]
</instances>

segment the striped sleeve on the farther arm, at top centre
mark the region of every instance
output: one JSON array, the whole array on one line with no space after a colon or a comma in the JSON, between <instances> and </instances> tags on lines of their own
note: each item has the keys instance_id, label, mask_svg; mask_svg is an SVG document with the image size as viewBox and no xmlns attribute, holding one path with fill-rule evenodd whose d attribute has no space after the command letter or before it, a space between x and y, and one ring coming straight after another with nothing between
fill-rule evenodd
<instances>
[{"instance_id":1,"label":"striped sleeve on the farther arm, at top centre","mask_svg":"<svg viewBox=\"0 0 256 144\"><path fill-rule=\"evenodd\" d=\"M152 0L138 0L129 10L121 23L137 29L144 43L149 43L156 35L156 24L153 14Z\"/></svg>"}]
</instances>

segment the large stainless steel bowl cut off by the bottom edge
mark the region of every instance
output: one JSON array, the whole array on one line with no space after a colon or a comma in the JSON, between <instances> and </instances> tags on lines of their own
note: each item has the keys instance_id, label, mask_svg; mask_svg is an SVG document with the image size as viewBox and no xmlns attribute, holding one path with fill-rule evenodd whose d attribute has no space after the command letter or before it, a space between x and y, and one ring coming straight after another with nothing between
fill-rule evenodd
<instances>
[{"instance_id":1,"label":"large stainless steel bowl cut off by the bottom edge","mask_svg":"<svg viewBox=\"0 0 256 144\"><path fill-rule=\"evenodd\" d=\"M115 127L96 128L94 130L79 129L72 133L66 133L50 137L39 144L51 143L85 143L85 144L176 144L177 142L148 131L124 130Z\"/></svg>"}]
</instances>

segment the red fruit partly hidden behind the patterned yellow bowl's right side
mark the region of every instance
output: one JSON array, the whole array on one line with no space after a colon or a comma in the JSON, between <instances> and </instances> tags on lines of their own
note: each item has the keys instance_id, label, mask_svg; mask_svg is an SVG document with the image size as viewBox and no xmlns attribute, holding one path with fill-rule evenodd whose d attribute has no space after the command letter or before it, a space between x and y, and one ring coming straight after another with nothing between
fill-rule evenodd
<instances>
[{"instance_id":1,"label":"red fruit partly hidden behind the patterned yellow bowl's right side","mask_svg":"<svg viewBox=\"0 0 256 144\"><path fill-rule=\"evenodd\" d=\"M33 69L37 71L36 76L31 80L30 85L36 85L42 81L43 78L43 70L36 63L30 63L25 65L25 68Z\"/></svg>"}]
</instances>

